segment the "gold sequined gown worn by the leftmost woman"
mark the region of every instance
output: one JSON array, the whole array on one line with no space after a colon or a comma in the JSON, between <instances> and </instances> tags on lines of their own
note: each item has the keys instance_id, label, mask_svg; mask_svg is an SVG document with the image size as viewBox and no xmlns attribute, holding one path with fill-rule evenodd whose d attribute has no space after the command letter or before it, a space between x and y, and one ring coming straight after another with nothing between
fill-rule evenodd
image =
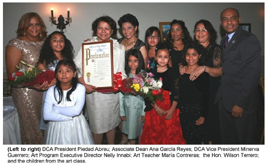
<instances>
[{"instance_id":1,"label":"gold sequined gown worn by the leftmost woman","mask_svg":"<svg viewBox=\"0 0 268 166\"><path fill-rule=\"evenodd\" d=\"M21 60L33 66L35 66L39 59L42 45L43 42L27 42L19 38L14 38L7 43L7 46L15 46L21 50ZM27 70L27 67L21 63L19 67ZM12 98L19 114L23 144L43 144L44 135L38 128L42 97L43 92L34 89L12 88Z\"/></svg>"}]
</instances>

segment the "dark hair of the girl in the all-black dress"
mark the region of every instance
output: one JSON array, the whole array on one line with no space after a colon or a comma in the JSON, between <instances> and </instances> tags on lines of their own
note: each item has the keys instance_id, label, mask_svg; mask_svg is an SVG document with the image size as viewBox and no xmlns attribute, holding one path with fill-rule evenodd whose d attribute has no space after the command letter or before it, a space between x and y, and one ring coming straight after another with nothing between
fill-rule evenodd
<instances>
[{"instance_id":1,"label":"dark hair of the girl in the all-black dress","mask_svg":"<svg viewBox=\"0 0 268 166\"><path fill-rule=\"evenodd\" d=\"M185 55L186 55L186 52L187 52L188 49L194 49L194 50L197 51L197 53L199 55L201 55L201 57L198 60L198 65L204 65L205 64L205 58L206 57L205 57L205 55L203 55L203 53L204 53L204 47L201 44L199 44L198 42L192 42L192 43L190 43L189 45L187 45L185 47L184 54L182 55L182 65L183 66L187 66L188 65L188 63L185 60Z\"/></svg>"}]
</instances>

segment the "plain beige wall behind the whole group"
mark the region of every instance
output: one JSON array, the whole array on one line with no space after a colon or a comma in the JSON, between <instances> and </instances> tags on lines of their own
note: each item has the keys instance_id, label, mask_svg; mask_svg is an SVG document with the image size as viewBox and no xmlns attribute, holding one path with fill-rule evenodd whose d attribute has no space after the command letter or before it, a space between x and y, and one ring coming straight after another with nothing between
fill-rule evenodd
<instances>
[{"instance_id":1,"label":"plain beige wall behind the whole group","mask_svg":"<svg viewBox=\"0 0 268 166\"><path fill-rule=\"evenodd\" d=\"M50 8L54 8L54 17L60 14L67 17L67 8L70 8L72 24L70 27L67 26L65 34L72 42L76 55L84 39L93 35L92 22L103 15L109 15L117 22L122 15L133 14L139 21L138 37L144 40L147 28L159 27L159 22L170 22L173 19L183 20L192 36L194 25L200 19L209 20L219 33L221 11L227 7L234 7L239 10L241 23L251 23L251 32L261 42L262 75L264 76L264 6L264 3L3 3L3 72L5 73L6 43L16 37L15 31L19 19L27 12L37 12L44 20L50 34L56 30L56 26L51 27L48 19ZM117 36L121 37L119 32ZM220 33L218 36L219 43Z\"/></svg>"}]
</instances>

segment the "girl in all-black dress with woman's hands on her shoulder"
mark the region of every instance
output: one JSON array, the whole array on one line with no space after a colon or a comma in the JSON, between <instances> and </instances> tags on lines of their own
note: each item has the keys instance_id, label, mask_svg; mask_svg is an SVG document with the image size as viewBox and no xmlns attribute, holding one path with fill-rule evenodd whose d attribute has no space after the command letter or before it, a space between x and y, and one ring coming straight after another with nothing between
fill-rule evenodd
<instances>
[{"instance_id":1,"label":"girl in all-black dress with woman's hands on her shoulder","mask_svg":"<svg viewBox=\"0 0 268 166\"><path fill-rule=\"evenodd\" d=\"M202 73L196 80L189 79L194 69L203 64L203 47L192 43L186 47L182 63L186 66L185 73L180 76L180 121L183 137L187 144L201 144L203 124L208 111L208 74Z\"/></svg>"}]
</instances>

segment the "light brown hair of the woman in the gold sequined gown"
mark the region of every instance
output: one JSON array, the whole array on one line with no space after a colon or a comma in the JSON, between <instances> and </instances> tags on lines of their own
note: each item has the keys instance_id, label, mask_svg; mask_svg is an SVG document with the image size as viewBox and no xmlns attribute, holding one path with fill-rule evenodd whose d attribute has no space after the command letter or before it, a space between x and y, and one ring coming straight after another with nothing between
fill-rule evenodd
<instances>
[{"instance_id":1,"label":"light brown hair of the woman in the gold sequined gown","mask_svg":"<svg viewBox=\"0 0 268 166\"><path fill-rule=\"evenodd\" d=\"M29 28L31 19L33 17L36 17L40 22L40 26L41 26L41 28L40 28L41 35L40 36L41 37L40 36L39 37L46 38L46 34L47 34L46 25L45 25L44 21L42 20L42 18L37 13L34 13L34 12L26 13L21 17L21 19L19 21L18 29L16 30L17 36L23 36L23 33L25 32L25 30Z\"/></svg>"}]
</instances>

